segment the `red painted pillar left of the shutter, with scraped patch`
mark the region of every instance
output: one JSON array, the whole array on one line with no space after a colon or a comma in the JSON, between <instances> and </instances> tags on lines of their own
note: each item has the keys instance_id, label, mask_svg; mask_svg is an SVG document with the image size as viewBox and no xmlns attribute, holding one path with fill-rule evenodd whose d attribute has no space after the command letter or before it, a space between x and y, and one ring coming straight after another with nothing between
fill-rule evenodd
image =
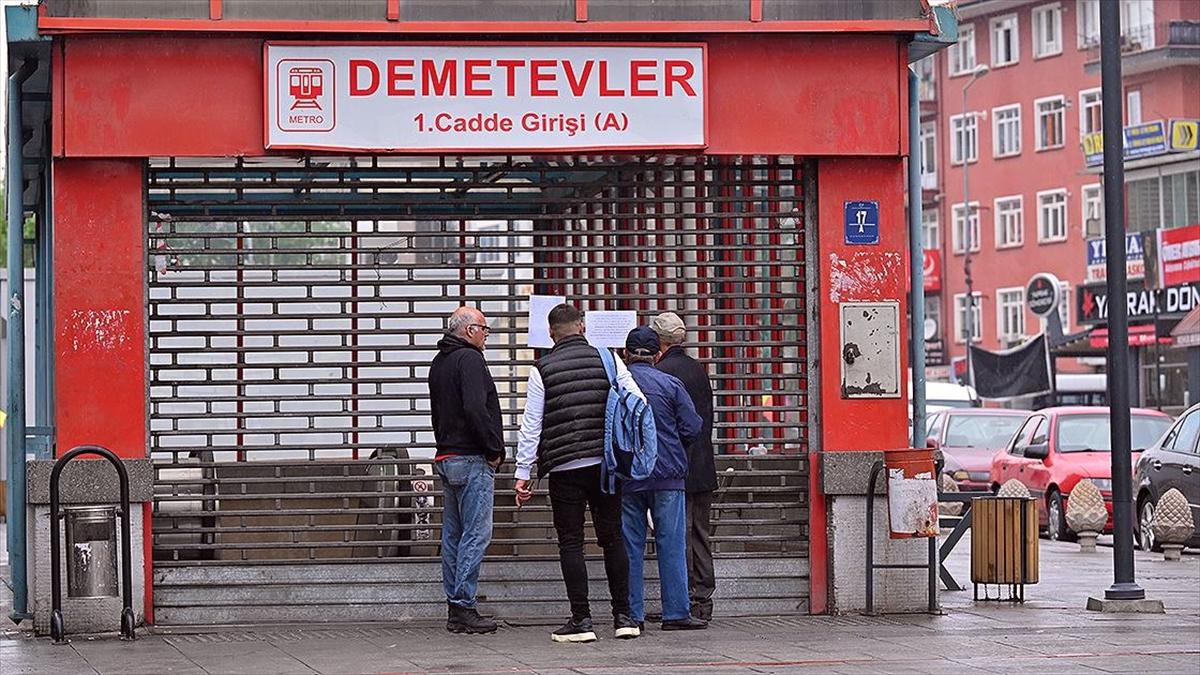
<instances>
[{"instance_id":1,"label":"red painted pillar left of the shutter, with scraped patch","mask_svg":"<svg viewBox=\"0 0 1200 675\"><path fill-rule=\"evenodd\" d=\"M142 160L54 160L58 450L145 458L145 208ZM150 507L143 510L152 621Z\"/></svg>"}]
</instances>

